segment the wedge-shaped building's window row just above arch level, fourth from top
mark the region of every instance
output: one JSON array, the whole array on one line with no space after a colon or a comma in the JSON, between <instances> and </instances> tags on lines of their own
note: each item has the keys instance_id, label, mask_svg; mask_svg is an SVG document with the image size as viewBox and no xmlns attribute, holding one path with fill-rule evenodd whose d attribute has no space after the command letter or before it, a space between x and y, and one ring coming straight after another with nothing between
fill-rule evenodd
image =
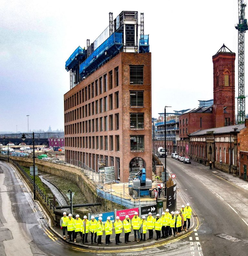
<instances>
[{"instance_id":1,"label":"wedge-shaped building's window row just above arch level, fourth from top","mask_svg":"<svg viewBox=\"0 0 248 256\"><path fill-rule=\"evenodd\" d=\"M65 138L67 147L114 150L114 136L86 136ZM119 135L115 135L115 151L119 151ZM130 135L130 151L145 151L144 135Z\"/></svg>"}]
</instances>

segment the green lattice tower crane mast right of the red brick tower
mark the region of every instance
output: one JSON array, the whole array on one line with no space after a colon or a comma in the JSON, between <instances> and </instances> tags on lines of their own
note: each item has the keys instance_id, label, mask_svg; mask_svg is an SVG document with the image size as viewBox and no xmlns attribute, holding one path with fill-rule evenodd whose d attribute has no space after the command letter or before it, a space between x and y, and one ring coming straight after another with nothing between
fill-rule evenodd
<instances>
[{"instance_id":1,"label":"green lattice tower crane mast right of the red brick tower","mask_svg":"<svg viewBox=\"0 0 248 256\"><path fill-rule=\"evenodd\" d=\"M239 23L238 30L238 123L244 123L245 119L245 95L244 95L244 33L248 30L247 20L244 17L246 4L238 0Z\"/></svg>"}]
</instances>

